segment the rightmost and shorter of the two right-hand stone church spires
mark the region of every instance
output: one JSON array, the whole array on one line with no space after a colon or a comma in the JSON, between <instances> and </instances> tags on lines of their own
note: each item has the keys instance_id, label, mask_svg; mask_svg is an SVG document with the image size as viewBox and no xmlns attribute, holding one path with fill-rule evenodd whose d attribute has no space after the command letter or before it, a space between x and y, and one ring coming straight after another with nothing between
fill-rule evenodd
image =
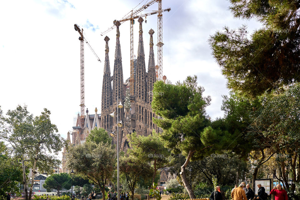
<instances>
[{"instance_id":1,"label":"rightmost and shorter of the two right-hand stone church spires","mask_svg":"<svg viewBox=\"0 0 300 200\"><path fill-rule=\"evenodd\" d=\"M153 51L153 29L149 31L150 34L150 51L149 51L149 62L148 62L148 77L147 77L147 102L152 102L153 97L153 84L156 81L155 76L155 61L154 61L154 51Z\"/></svg>"}]
</instances>

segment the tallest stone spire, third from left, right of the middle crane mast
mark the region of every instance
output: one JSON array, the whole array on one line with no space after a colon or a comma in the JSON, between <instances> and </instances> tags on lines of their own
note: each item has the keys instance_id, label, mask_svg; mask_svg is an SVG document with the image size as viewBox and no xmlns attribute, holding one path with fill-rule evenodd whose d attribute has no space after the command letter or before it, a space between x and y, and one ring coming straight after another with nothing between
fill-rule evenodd
<instances>
[{"instance_id":1,"label":"tallest stone spire, third from left, right of the middle crane mast","mask_svg":"<svg viewBox=\"0 0 300 200\"><path fill-rule=\"evenodd\" d=\"M138 22L140 23L139 39L138 39L138 62L137 62L137 77L136 77L136 93L135 99L146 101L146 67L145 67L145 53L143 43L143 18L140 17Z\"/></svg>"}]
</instances>

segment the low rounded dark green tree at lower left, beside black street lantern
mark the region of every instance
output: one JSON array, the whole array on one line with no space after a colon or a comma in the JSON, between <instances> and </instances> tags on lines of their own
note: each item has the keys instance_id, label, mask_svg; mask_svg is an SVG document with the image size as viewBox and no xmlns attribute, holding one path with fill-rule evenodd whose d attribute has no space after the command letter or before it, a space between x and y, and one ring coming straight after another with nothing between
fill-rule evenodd
<instances>
[{"instance_id":1,"label":"low rounded dark green tree at lower left, beside black street lantern","mask_svg":"<svg viewBox=\"0 0 300 200\"><path fill-rule=\"evenodd\" d=\"M46 178L43 187L57 190L59 196L59 190L71 189L71 177L68 173L51 174Z\"/></svg>"}]
</instances>

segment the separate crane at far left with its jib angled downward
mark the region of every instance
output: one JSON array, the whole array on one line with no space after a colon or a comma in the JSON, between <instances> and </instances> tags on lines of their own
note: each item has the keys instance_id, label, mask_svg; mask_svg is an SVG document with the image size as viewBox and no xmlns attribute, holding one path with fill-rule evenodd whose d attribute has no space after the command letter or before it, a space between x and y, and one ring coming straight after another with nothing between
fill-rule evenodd
<instances>
[{"instance_id":1,"label":"separate crane at far left with its jib angled downward","mask_svg":"<svg viewBox=\"0 0 300 200\"><path fill-rule=\"evenodd\" d=\"M80 37L78 38L80 40L80 122L81 122L81 133L83 133L83 126L84 126L84 48L83 48L83 41L85 41L88 44L88 47L92 50L93 54L98 58L98 61L100 61L100 58L97 56L91 45L88 43L88 41L83 36L83 29L80 31L80 27L77 24L74 24L75 31L78 31L80 34Z\"/></svg>"}]
</instances>

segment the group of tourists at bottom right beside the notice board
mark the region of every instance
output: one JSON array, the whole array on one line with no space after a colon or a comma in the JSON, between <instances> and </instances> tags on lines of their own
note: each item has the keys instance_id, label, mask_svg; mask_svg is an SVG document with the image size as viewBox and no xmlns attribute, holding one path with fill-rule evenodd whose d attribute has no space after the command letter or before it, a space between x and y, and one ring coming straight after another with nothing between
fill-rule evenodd
<instances>
[{"instance_id":1,"label":"group of tourists at bottom right beside the notice board","mask_svg":"<svg viewBox=\"0 0 300 200\"><path fill-rule=\"evenodd\" d=\"M231 197L233 200L266 200L268 194L261 184L257 184L258 191L257 195L254 194L253 190L250 188L249 184L242 182L239 185L235 185L231 190ZM275 196L275 200L287 200L287 192L282 189L281 184L277 184L270 194ZM210 200L224 200L225 192L221 190L220 186L217 186L215 191L209 197Z\"/></svg>"}]
</instances>

